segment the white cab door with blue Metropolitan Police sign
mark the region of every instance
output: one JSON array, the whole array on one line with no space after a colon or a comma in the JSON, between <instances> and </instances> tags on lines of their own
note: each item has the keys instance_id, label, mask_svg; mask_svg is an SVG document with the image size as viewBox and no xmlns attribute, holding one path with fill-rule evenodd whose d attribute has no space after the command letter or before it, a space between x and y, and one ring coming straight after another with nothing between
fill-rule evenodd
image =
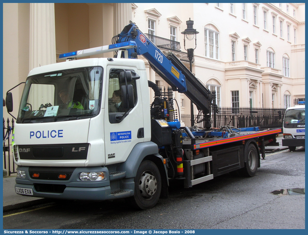
<instances>
[{"instance_id":1,"label":"white cab door with blue Metropolitan Police sign","mask_svg":"<svg viewBox=\"0 0 308 235\"><path fill-rule=\"evenodd\" d=\"M105 156L106 165L124 162L132 148L139 142L144 142L143 107L139 80L132 80L128 85L133 86L134 106L127 109L119 99L121 83L117 69L129 69L138 73L135 67L107 66L106 97L105 97ZM125 114L126 113L126 114ZM125 114L125 117L121 117Z\"/></svg>"}]
</instances>

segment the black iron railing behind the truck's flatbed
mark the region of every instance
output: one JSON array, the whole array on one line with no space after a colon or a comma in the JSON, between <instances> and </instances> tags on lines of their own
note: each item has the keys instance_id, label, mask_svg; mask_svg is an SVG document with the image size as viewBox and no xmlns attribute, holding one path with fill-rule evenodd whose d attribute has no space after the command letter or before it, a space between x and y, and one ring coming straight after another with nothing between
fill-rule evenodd
<instances>
[{"instance_id":1,"label":"black iron railing behind the truck's flatbed","mask_svg":"<svg viewBox=\"0 0 308 235\"><path fill-rule=\"evenodd\" d=\"M212 114L212 127L230 125L237 128L251 126L259 126L261 129L282 128L285 111L285 109L270 108L217 107L217 113ZM196 117L197 115L195 119ZM189 114L182 114L181 121L185 122L186 126L191 126ZM203 127L203 123L196 124L196 126Z\"/></svg>"}]
</instances>

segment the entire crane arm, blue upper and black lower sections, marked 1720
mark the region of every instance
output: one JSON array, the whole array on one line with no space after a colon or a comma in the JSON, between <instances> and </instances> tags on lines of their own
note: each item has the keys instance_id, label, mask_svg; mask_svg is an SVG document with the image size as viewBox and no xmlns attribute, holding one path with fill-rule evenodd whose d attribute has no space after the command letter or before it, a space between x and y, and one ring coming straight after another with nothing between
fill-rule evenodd
<instances>
[{"instance_id":1,"label":"entire crane arm, blue upper and black lower sections, marked 1720","mask_svg":"<svg viewBox=\"0 0 308 235\"><path fill-rule=\"evenodd\" d=\"M207 122L205 126L209 127L212 102L209 89L175 55L171 52L164 55L132 22L125 26L118 35L118 43L126 41L134 41L137 45L136 48L127 49L128 58L137 58L137 55L144 56L155 67L155 72L171 85L173 90L184 93L193 101L198 110L202 110Z\"/></svg>"}]
</instances>

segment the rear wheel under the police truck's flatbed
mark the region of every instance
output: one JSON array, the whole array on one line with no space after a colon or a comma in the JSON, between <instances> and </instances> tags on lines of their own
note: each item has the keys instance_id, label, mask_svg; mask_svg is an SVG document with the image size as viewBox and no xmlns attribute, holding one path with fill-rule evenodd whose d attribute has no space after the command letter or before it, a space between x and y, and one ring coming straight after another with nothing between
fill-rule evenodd
<instances>
[{"instance_id":1,"label":"rear wheel under the police truck's flatbed","mask_svg":"<svg viewBox=\"0 0 308 235\"><path fill-rule=\"evenodd\" d=\"M253 177L258 168L259 155L254 144L249 144L245 151L245 162L244 168L240 169L240 173L242 176Z\"/></svg>"}]
</instances>

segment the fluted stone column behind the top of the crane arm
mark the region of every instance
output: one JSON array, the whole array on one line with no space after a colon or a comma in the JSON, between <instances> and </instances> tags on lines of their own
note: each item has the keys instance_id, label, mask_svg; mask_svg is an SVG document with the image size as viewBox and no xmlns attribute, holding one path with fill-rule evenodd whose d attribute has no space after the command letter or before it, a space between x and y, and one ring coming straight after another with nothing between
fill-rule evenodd
<instances>
[{"instance_id":1,"label":"fluted stone column behind the top of the crane arm","mask_svg":"<svg viewBox=\"0 0 308 235\"><path fill-rule=\"evenodd\" d=\"M132 20L132 3L114 3L113 7L113 32L119 34Z\"/></svg>"}]
</instances>

